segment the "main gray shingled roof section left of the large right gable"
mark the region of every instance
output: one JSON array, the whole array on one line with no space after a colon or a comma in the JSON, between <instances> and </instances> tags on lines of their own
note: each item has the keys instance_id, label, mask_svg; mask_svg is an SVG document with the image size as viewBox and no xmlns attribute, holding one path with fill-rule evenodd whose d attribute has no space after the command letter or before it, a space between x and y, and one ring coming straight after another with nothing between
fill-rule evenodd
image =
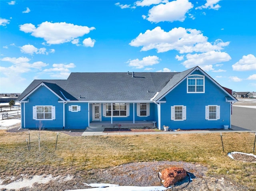
<instances>
[{"instance_id":1,"label":"main gray shingled roof section left of the large right gable","mask_svg":"<svg viewBox=\"0 0 256 191\"><path fill-rule=\"evenodd\" d=\"M132 77L132 73L71 73L67 80L34 80L18 100L42 82L64 100L150 100L177 74L142 72Z\"/></svg>"}]
</instances>

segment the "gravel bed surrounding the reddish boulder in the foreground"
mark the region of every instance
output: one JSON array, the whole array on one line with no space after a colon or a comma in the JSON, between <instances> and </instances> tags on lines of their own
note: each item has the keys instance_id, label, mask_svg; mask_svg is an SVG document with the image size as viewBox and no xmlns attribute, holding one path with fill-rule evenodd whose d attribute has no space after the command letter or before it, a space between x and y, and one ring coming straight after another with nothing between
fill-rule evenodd
<instances>
[{"instance_id":1,"label":"gravel bed surrounding the reddish boulder in the foreground","mask_svg":"<svg viewBox=\"0 0 256 191\"><path fill-rule=\"evenodd\" d=\"M208 177L207 168L194 163L182 161L152 161L128 163L108 169L92 170L90 173L98 177L90 183L112 183L132 186L161 186L158 172L168 167L182 167L189 176L176 183L172 189L182 191L231 191L235 184L224 177ZM171 189L171 190L172 190Z\"/></svg>"}]
</instances>

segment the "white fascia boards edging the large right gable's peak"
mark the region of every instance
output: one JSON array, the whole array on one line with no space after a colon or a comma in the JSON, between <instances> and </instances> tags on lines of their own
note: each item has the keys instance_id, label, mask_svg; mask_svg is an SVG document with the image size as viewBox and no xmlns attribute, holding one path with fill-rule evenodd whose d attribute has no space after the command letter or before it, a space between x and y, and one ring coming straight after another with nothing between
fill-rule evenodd
<instances>
[{"instance_id":1,"label":"white fascia boards edging the large right gable's peak","mask_svg":"<svg viewBox=\"0 0 256 191\"><path fill-rule=\"evenodd\" d=\"M176 88L178 85L180 85L180 83L182 83L189 75L191 75L194 71L199 70L200 72L202 72L206 77L208 77L208 79L210 79L210 81L212 81L215 85L217 85L222 91L224 91L226 94L228 94L234 101L238 101L236 98L234 98L234 96L232 96L230 93L228 93L228 91L226 91L221 85L219 85L214 79L212 79L212 77L210 77L205 71L203 71L200 67L196 67L194 68L190 73L188 73L188 75L186 75L182 80L180 80L174 87L172 87L169 91L167 91L163 96L161 96L158 100L161 100L162 98L164 98L168 93L170 93L174 88ZM158 102L158 100L156 100L156 102Z\"/></svg>"}]
</instances>

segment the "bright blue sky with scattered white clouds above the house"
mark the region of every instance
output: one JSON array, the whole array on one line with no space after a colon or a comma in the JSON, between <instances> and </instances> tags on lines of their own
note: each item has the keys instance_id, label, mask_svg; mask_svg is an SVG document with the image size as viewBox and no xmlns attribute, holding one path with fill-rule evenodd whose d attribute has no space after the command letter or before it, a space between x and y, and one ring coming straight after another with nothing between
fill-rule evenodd
<instances>
[{"instance_id":1,"label":"bright blue sky with scattered white clouds above the house","mask_svg":"<svg viewBox=\"0 0 256 191\"><path fill-rule=\"evenodd\" d=\"M70 72L200 66L256 91L256 0L0 1L0 93Z\"/></svg>"}]
</instances>

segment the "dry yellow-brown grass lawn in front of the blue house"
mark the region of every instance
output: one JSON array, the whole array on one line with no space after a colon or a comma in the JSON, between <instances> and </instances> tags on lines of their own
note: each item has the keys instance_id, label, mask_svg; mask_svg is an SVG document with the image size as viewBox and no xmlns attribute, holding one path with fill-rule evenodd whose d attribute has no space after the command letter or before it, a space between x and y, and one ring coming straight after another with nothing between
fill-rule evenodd
<instances>
[{"instance_id":1,"label":"dry yellow-brown grass lawn in front of the blue house","mask_svg":"<svg viewBox=\"0 0 256 191\"><path fill-rule=\"evenodd\" d=\"M256 163L227 156L233 151L251 153L254 133L222 133L224 153L217 133L85 137L59 133L55 151L56 135L42 131L39 152L38 132L31 130L29 152L28 132L0 130L0 177L65 175L136 161L168 160L200 163L209 168L209 175L224 175L244 186L256 185Z\"/></svg>"}]
</instances>

